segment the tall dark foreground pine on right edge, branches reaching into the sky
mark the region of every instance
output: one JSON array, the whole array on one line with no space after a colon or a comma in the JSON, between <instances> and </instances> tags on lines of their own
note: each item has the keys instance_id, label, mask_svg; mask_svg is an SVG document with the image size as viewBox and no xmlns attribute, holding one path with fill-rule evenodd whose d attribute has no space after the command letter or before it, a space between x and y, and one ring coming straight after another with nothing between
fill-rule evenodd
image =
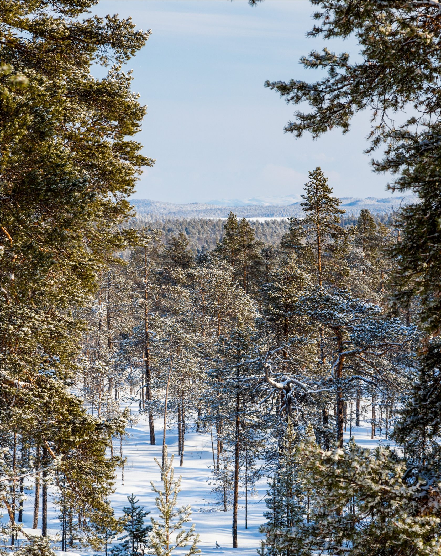
<instances>
[{"instance_id":1,"label":"tall dark foreground pine on right edge, branches reaching into the sky","mask_svg":"<svg viewBox=\"0 0 441 556\"><path fill-rule=\"evenodd\" d=\"M438 86L434 88L441 66L439 6L438 2L349 0L313 0L313 4L319 9L308 35L325 39L353 35L362 59L350 63L348 53L336 55L328 48L323 53L312 51L300 61L306 68L326 69L327 76L315 83L291 80L266 85L295 105L309 103L311 111L297 112L295 121L285 127L297 137L304 131L318 137L335 127L345 133L353 115L368 109L372 127L367 152L385 146L382 160L373 161L374 171L396 176L389 190L412 191L418 196L416 202L399 210L400 241L389 246L388 256L394 262L392 305L409 311L417 302L417 322L427 335L418 356L420 377L409 392L397 431L400 441L412 435L421 447L438 434L440 424L441 92ZM409 114L409 105L412 116L401 125L390 126L390 121L397 121L397 112ZM411 451L416 454L418 450ZM432 458L430 462L432 465ZM423 456L417 467L424 466ZM427 480L432 480L430 467L425 473Z\"/></svg>"}]
</instances>

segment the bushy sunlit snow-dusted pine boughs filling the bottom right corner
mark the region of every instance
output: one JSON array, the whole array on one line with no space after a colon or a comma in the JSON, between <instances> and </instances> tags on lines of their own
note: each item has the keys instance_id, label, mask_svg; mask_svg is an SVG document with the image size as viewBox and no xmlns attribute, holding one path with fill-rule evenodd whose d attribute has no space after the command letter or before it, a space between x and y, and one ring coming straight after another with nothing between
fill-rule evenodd
<instances>
[{"instance_id":1,"label":"bushy sunlit snow-dusted pine boughs filling the bottom right corner","mask_svg":"<svg viewBox=\"0 0 441 556\"><path fill-rule=\"evenodd\" d=\"M309 519L294 527L268 527L268 552L439 554L440 520L432 509L420 512L416 501L424 488L409 480L405 464L389 448L369 450L352 441L344 449L323 451L305 441L295 460L301 488L310 492Z\"/></svg>"}]
</instances>

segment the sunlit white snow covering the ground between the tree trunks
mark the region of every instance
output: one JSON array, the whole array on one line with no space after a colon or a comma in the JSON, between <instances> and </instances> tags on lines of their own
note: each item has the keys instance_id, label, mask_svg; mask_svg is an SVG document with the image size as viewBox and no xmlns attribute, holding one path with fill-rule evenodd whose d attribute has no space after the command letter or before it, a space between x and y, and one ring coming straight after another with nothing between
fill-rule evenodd
<instances>
[{"instance_id":1,"label":"sunlit white snow covering the ground between the tree trunks","mask_svg":"<svg viewBox=\"0 0 441 556\"><path fill-rule=\"evenodd\" d=\"M132 406L133 407L133 406ZM134 409L133 409L134 413ZM364 426L354 427L353 436L358 444L372 448L379 442L379 437L370 438L370 424L362 423ZM139 498L139 503L145 510L149 510L153 517L157 517L154 505L155 495L152 492L150 481L157 486L161 485L161 477L158 466L153 458L161 459L162 454L162 424L155 423L156 438L158 444L152 446L149 443L148 420L144 416L139 419L137 425L128 428L129 437L123 441L123 456L127 458L124 467L124 485L121 484L121 469L118 470L116 478L116 491L112 495L112 507L116 515L122 515L122 508L127 504L127 495L132 492ZM345 439L349 439L348 431ZM383 436L384 441L384 436ZM193 522L196 532L201 537L199 548L203 556L208 554L240 554L248 556L256 554L260 539L263 535L258 532L259 525L264 523L263 512L265 511L264 498L268 488L267 479L262 479L257 484L257 496L248 499L248 529L245 529L244 498L239 501L238 519L238 544L239 548L232 548L232 510L228 512L209 511L213 502L216 502L211 493L212 486L209 484L211 472L208 466L213 465L211 439L209 434L200 434L194 431L186 433L184 450L184 465L179 467L178 458L178 436L174 430L167 430L167 445L169 455L174 454L175 475L182 475L182 491L179 494L178 505L190 504L193 511ZM119 445L114 446L115 452L119 453ZM28 533L40 534L40 530L32 531L33 493L24 504L23 525ZM146 518L148 519L149 516ZM41 525L41 523L39 523ZM57 535L61 530L61 523L56 517L52 505L48 508L48 534ZM216 542L221 548L216 549ZM214 552L213 552L214 551ZM176 554L182 554L184 550L177 550ZM62 553L57 551L58 556L71 556L73 554L92 555L97 554L92 550L76 550L74 552Z\"/></svg>"}]
</instances>

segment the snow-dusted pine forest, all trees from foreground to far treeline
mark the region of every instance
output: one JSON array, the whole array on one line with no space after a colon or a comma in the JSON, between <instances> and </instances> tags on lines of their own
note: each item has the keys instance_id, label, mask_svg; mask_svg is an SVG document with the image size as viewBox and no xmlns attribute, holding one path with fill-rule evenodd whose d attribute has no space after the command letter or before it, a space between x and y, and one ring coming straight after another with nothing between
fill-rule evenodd
<instances>
[{"instance_id":1,"label":"snow-dusted pine forest, all trees from foreground to far treeline","mask_svg":"<svg viewBox=\"0 0 441 556\"><path fill-rule=\"evenodd\" d=\"M134 215L154 160L133 139L146 107L123 64L151 32L93 4L2 3L2 551L165 556L174 528L197 554L173 426L176 466L189 430L210 442L210 509L231 511L234 548L240 497L248 527L266 477L261 556L439 554L439 3L313 0L310 36L353 34L362 62L325 48L302 57L319 81L267 82L309 105L285 127L298 138L370 111L374 171L418 200L348 215L312 167L302 215L266 222ZM152 525L135 493L112 508L141 419L144 444L162 441ZM372 449L355 441L363 424Z\"/></svg>"}]
</instances>

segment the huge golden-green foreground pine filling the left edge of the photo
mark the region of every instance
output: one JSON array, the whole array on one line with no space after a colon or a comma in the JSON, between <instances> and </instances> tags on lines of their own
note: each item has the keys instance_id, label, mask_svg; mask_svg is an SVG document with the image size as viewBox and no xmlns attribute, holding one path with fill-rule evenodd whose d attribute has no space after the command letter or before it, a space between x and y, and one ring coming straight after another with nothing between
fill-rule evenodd
<instances>
[{"instance_id":1,"label":"huge golden-green foreground pine filling the left edge of the photo","mask_svg":"<svg viewBox=\"0 0 441 556\"><path fill-rule=\"evenodd\" d=\"M146 109L121 71L149 32L129 18L87 17L92 5L2 6L1 352L2 441L13 448L19 435L29 446L37 468L27 471L47 479L43 510L52 479L43 469L62 461L84 542L98 543L93 523L109 513L114 463L106 458L111 431L68 391L83 371L78 308L133 238L118 227L131 214L126 197L141 167L153 160L126 139ZM95 79L93 64L112 67ZM12 483L12 492L2 483L2 503L16 504ZM43 512L44 534L46 524Z\"/></svg>"}]
</instances>

